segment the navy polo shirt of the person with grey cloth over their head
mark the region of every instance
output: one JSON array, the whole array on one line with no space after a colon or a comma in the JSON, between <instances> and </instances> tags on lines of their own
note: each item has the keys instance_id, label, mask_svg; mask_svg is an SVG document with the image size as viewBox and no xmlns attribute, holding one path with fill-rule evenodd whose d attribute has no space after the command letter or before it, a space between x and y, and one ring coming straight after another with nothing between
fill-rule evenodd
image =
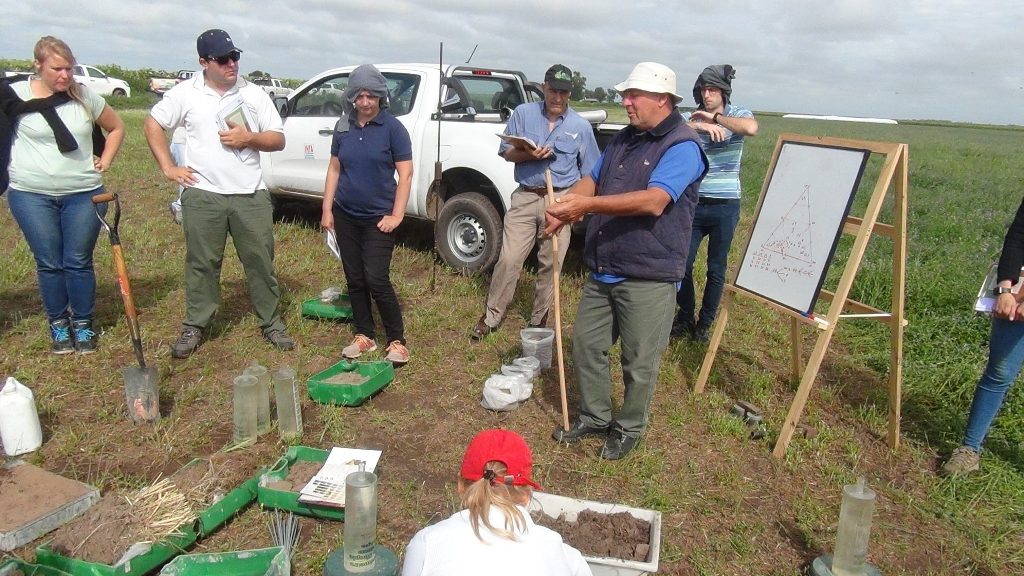
<instances>
[{"instance_id":1,"label":"navy polo shirt of the person with grey cloth over their head","mask_svg":"<svg viewBox=\"0 0 1024 576\"><path fill-rule=\"evenodd\" d=\"M409 130L387 109L359 126L349 117L348 131L335 131L331 156L341 162L334 203L353 218L386 216L394 208L394 165L413 159Z\"/></svg>"}]
</instances>

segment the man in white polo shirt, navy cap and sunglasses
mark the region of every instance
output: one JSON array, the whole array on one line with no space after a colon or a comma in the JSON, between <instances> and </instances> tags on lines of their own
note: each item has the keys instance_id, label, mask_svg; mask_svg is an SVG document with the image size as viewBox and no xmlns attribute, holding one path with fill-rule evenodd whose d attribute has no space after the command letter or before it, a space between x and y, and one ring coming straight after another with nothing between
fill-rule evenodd
<instances>
[{"instance_id":1,"label":"man in white polo shirt, navy cap and sunglasses","mask_svg":"<svg viewBox=\"0 0 1024 576\"><path fill-rule=\"evenodd\" d=\"M242 50L223 30L196 41L203 74L164 94L145 119L145 139L164 175L184 187L185 320L171 356L187 358L220 301L220 268L230 235L245 269L263 337L292 349L279 312L273 272L273 207L259 153L285 148L281 115L269 96L239 75ZM175 166L164 130L184 126L187 165Z\"/></svg>"}]
</instances>

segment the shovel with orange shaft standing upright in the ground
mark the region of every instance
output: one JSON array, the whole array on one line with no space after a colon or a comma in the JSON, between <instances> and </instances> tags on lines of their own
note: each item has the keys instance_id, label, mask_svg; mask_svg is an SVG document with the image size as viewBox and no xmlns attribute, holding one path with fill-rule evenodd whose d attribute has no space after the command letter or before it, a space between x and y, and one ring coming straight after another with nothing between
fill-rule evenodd
<instances>
[{"instance_id":1,"label":"shovel with orange shaft standing upright in the ground","mask_svg":"<svg viewBox=\"0 0 1024 576\"><path fill-rule=\"evenodd\" d=\"M99 211L99 205L114 201L114 224L111 225ZM131 333L131 343L135 348L135 359L138 368L129 366L122 369L125 380L125 398L128 402L128 415L135 422L152 422L160 418L160 390L157 387L157 369L146 367L142 357L142 334L138 328L138 316L135 313L135 300L131 295L131 283L128 281L128 269L125 266L124 254L121 252L121 238L118 236L118 223L121 221L121 201L117 194L104 193L92 197L96 217L103 230L111 237L111 248L114 250L114 265L118 271L118 285L121 289L121 299L125 303L125 316L128 318L128 331Z\"/></svg>"}]
</instances>

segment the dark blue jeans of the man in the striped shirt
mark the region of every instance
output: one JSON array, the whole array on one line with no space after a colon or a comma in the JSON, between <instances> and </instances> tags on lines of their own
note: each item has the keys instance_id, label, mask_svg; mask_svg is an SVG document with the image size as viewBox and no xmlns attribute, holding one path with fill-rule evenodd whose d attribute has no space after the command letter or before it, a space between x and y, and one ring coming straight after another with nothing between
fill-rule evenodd
<instances>
[{"instance_id":1,"label":"dark blue jeans of the man in the striped shirt","mask_svg":"<svg viewBox=\"0 0 1024 576\"><path fill-rule=\"evenodd\" d=\"M705 283L700 314L696 324L711 327L718 314L718 303L725 291L725 270L732 237L739 222L739 201L726 204L697 204L693 214L693 234L690 238L690 253L686 259L686 276L676 294L679 304L677 323L694 322L696 291L693 287L693 261L697 257L700 241L708 237L708 282Z\"/></svg>"}]
</instances>

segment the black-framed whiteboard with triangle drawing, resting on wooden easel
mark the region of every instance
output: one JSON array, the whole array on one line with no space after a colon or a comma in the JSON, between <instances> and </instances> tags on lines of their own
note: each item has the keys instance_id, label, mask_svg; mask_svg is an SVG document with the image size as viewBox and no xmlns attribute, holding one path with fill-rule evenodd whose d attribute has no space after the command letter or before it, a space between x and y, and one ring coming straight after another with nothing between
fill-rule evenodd
<instances>
[{"instance_id":1,"label":"black-framed whiteboard with triangle drawing, resting on wooden easel","mask_svg":"<svg viewBox=\"0 0 1024 576\"><path fill-rule=\"evenodd\" d=\"M811 314L870 152L783 141L735 285Z\"/></svg>"}]
</instances>

